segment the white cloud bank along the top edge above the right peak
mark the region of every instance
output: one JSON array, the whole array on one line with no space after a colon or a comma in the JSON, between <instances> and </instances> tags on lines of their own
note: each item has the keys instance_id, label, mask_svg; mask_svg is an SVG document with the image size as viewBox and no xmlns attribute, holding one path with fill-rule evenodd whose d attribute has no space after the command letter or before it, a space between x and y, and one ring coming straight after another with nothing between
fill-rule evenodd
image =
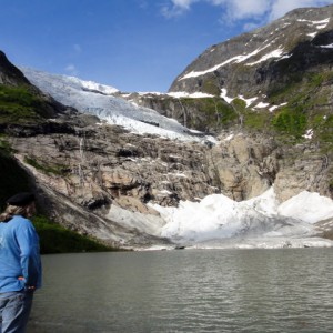
<instances>
[{"instance_id":1,"label":"white cloud bank along the top edge above the right peak","mask_svg":"<svg viewBox=\"0 0 333 333\"><path fill-rule=\"evenodd\" d=\"M162 13L167 18L179 17L191 10L195 2L219 7L223 21L232 23L239 20L269 22L295 8L332 4L333 0L170 0L163 6Z\"/></svg>"}]
</instances>

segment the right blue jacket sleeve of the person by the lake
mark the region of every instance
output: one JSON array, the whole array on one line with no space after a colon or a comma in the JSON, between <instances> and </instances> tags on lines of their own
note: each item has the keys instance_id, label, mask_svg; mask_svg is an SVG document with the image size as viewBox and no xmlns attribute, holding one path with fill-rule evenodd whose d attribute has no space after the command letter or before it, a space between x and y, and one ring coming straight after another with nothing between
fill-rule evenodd
<instances>
[{"instance_id":1,"label":"right blue jacket sleeve of the person by the lake","mask_svg":"<svg viewBox=\"0 0 333 333\"><path fill-rule=\"evenodd\" d=\"M39 253L39 238L29 220L21 223L17 241L20 248L20 262L26 286L40 287L41 260Z\"/></svg>"}]
</instances>

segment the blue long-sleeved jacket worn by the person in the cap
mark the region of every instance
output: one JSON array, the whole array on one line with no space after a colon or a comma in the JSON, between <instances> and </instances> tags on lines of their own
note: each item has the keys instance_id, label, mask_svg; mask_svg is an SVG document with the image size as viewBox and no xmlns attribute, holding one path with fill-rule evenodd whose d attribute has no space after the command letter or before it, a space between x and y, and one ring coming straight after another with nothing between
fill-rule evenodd
<instances>
[{"instance_id":1,"label":"blue long-sleeved jacket worn by the person in the cap","mask_svg":"<svg viewBox=\"0 0 333 333\"><path fill-rule=\"evenodd\" d=\"M28 219L16 215L0 223L0 293L28 286L41 286L39 236Z\"/></svg>"}]
</instances>

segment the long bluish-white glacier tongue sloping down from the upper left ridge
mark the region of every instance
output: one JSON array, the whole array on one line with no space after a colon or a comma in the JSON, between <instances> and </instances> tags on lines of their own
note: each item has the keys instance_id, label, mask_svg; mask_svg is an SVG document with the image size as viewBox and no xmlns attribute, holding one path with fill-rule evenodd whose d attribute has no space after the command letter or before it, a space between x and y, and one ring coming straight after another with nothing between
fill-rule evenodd
<instances>
[{"instance_id":1,"label":"long bluish-white glacier tongue sloping down from the upper left ridge","mask_svg":"<svg viewBox=\"0 0 333 333\"><path fill-rule=\"evenodd\" d=\"M111 95L110 93L118 91L112 87L33 69L21 70L31 83L60 103L97 115L111 124L122 125L134 133L151 133L183 141L211 140L199 138L174 119L163 117L152 109Z\"/></svg>"}]
</instances>

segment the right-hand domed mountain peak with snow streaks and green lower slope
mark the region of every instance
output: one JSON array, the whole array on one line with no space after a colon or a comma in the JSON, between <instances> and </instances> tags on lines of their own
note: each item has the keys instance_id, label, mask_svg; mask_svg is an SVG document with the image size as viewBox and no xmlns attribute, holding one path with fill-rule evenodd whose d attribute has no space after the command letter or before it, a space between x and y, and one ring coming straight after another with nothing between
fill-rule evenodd
<instances>
[{"instance_id":1,"label":"right-hand domed mountain peak with snow streaks and green lower slope","mask_svg":"<svg viewBox=\"0 0 333 333\"><path fill-rule=\"evenodd\" d=\"M221 97L244 128L265 124L281 135L332 144L332 17L333 6L296 9L212 46L178 75L170 92Z\"/></svg>"}]
</instances>

